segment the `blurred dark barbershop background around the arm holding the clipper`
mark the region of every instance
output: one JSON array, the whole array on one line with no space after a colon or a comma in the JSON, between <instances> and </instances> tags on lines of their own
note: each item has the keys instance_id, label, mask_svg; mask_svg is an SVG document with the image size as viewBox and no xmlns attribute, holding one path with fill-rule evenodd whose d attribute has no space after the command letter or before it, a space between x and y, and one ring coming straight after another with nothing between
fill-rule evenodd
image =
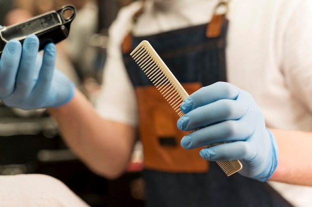
<instances>
[{"instance_id":1,"label":"blurred dark barbershop background around the arm holding the clipper","mask_svg":"<svg viewBox=\"0 0 312 207\"><path fill-rule=\"evenodd\" d=\"M57 46L56 66L93 103L102 83L107 29L118 10L134 0L0 0L0 24L11 25L65 4L77 9L68 38ZM47 174L63 181L92 207L140 207L144 203L140 143L129 170L107 180L89 171L68 149L44 110L0 103L0 175Z\"/></svg>"}]
</instances>

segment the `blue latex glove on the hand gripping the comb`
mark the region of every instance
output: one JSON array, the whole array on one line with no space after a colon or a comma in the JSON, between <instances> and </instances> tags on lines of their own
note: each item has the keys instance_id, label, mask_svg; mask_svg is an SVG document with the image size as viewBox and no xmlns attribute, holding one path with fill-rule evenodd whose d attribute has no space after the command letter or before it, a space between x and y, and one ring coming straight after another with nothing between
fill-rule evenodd
<instances>
[{"instance_id":1,"label":"blue latex glove on the hand gripping the comb","mask_svg":"<svg viewBox=\"0 0 312 207\"><path fill-rule=\"evenodd\" d=\"M238 173L262 182L274 173L277 143L249 93L218 82L191 94L180 109L185 113L177 121L180 130L202 127L182 138L183 148L226 142L202 149L201 157L210 161L240 160L243 169Z\"/></svg>"}]
</instances>

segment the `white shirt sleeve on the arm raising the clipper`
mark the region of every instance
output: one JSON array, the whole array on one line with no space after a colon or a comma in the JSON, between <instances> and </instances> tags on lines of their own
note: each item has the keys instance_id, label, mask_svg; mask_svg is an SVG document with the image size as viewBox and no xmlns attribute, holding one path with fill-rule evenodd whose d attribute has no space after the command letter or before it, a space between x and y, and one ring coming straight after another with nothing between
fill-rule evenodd
<instances>
[{"instance_id":1,"label":"white shirt sleeve on the arm raising the clipper","mask_svg":"<svg viewBox=\"0 0 312 207\"><path fill-rule=\"evenodd\" d=\"M121 52L127 25L140 4L122 8L109 29L107 57L100 94L95 102L97 112L106 119L137 125L137 102Z\"/></svg>"}]
</instances>

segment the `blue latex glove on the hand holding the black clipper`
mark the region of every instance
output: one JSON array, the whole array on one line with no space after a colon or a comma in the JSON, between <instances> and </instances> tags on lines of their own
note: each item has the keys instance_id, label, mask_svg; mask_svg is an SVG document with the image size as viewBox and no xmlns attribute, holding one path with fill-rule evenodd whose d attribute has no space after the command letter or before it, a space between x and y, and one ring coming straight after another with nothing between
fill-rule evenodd
<instances>
[{"instance_id":1,"label":"blue latex glove on the hand holding the black clipper","mask_svg":"<svg viewBox=\"0 0 312 207\"><path fill-rule=\"evenodd\" d=\"M53 43L38 54L37 36L28 35L23 45L17 40L6 43L0 59L0 99L10 107L36 109L56 107L70 101L74 84L54 69L56 48Z\"/></svg>"}]
</instances>

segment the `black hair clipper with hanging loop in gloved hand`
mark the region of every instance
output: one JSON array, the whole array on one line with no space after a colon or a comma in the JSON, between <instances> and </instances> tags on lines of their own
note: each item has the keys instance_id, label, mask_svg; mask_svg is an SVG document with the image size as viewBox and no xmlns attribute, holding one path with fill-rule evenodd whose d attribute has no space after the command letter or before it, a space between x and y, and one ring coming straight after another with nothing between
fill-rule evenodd
<instances>
[{"instance_id":1,"label":"black hair clipper with hanging loop in gloved hand","mask_svg":"<svg viewBox=\"0 0 312 207\"><path fill-rule=\"evenodd\" d=\"M42 50L48 42L56 44L64 40L68 37L70 24L75 16L76 8L73 5L65 5L59 10L52 10L21 23L4 26L0 29L0 56L4 45L9 40L17 39L23 43L29 34L35 34L39 38L39 50Z\"/></svg>"}]
</instances>

